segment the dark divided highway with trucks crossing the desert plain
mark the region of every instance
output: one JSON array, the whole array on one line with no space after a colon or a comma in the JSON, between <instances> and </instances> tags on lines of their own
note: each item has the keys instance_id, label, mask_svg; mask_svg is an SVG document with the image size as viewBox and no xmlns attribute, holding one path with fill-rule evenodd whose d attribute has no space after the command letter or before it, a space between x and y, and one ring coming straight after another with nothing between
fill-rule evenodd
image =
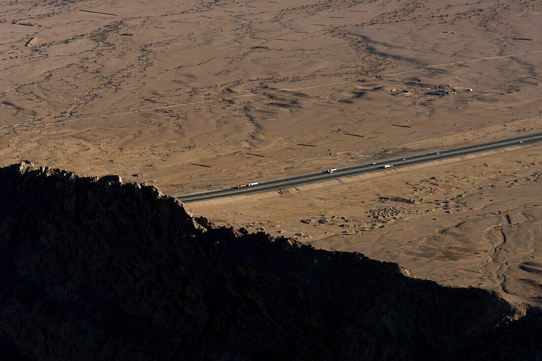
<instances>
[{"instance_id":1,"label":"dark divided highway with trucks crossing the desert plain","mask_svg":"<svg viewBox=\"0 0 542 361\"><path fill-rule=\"evenodd\" d=\"M343 178L343 177L356 176L356 175L360 175L364 173L383 171L384 165L388 165L388 164L392 165L392 167L391 168L389 167L388 169L393 169L393 168L399 168L399 167L404 167L404 166L409 166L409 165L433 162L435 160L467 156L468 154L475 154L475 153L486 152L490 150L504 149L511 146L527 145L527 144L537 143L539 141L542 141L542 133L535 133L535 134L530 134L528 136L495 140L489 143L470 145L470 146L454 148L454 149L444 149L444 150L434 151L430 153L422 153L422 154L416 154L412 156L405 156L402 158L379 160L378 162L373 162L373 163L366 163L366 164L354 165L354 166L349 166L349 167L344 167L344 168L338 168L337 170L334 170L332 173L328 173L327 171L319 171L315 173L308 173L305 175L275 179L273 181L259 182L256 185L251 185L251 186L247 185L247 186L244 186L243 188L237 188L237 186L234 186L232 188L178 196L177 198L184 203L189 203L189 202L208 201L209 199L247 195L247 194L265 192L265 191L270 191L270 190L278 190L278 189L298 186L302 184L328 181L330 179L337 179L337 178ZM248 182L256 182L256 181L254 179L248 179L246 184L248 184Z\"/></svg>"}]
</instances>

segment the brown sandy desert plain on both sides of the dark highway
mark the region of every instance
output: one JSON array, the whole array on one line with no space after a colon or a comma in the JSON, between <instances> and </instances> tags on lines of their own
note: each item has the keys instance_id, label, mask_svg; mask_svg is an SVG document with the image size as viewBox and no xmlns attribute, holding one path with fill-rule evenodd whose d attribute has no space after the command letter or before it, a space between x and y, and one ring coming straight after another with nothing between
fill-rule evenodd
<instances>
[{"instance_id":1,"label":"brown sandy desert plain on both sides of the dark highway","mask_svg":"<svg viewBox=\"0 0 542 361\"><path fill-rule=\"evenodd\" d=\"M181 195L542 128L536 1L0 7L2 165L117 173ZM540 303L539 153L190 207Z\"/></svg>"}]
</instances>

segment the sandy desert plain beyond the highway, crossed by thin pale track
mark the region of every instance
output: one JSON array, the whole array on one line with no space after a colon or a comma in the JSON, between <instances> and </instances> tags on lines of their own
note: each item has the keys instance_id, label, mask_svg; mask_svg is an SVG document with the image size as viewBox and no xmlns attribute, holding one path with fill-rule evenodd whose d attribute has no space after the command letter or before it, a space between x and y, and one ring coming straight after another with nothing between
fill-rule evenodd
<instances>
[{"instance_id":1,"label":"sandy desert plain beyond the highway, crossed by thin pale track","mask_svg":"<svg viewBox=\"0 0 542 361\"><path fill-rule=\"evenodd\" d=\"M185 194L501 138L540 119L542 53L416 70L542 49L538 2L21 1L2 10L3 164L28 158ZM427 94L439 85L457 94ZM298 90L266 93L280 88ZM133 112L255 93L264 94ZM119 112L132 113L88 119Z\"/></svg>"}]
</instances>

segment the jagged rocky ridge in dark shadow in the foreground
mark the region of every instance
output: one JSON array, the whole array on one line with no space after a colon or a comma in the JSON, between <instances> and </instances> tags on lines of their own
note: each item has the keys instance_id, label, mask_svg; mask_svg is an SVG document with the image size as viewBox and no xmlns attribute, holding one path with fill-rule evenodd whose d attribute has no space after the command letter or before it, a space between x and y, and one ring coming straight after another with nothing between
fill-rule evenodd
<instances>
[{"instance_id":1,"label":"jagged rocky ridge in dark shadow in the foreground","mask_svg":"<svg viewBox=\"0 0 542 361\"><path fill-rule=\"evenodd\" d=\"M0 347L21 358L453 359L514 312L118 176L0 169Z\"/></svg>"}]
</instances>

